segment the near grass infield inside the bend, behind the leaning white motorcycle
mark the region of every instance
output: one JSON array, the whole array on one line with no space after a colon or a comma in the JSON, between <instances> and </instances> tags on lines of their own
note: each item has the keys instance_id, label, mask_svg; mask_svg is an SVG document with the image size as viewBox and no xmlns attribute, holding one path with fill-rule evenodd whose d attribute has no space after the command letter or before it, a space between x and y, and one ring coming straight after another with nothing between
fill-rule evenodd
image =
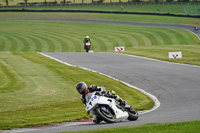
<instances>
[{"instance_id":1,"label":"near grass infield inside the bend, behind the leaning white motorcycle","mask_svg":"<svg viewBox=\"0 0 200 133\"><path fill-rule=\"evenodd\" d=\"M113 89L137 110L153 106L147 96L120 82L37 53L0 52L0 64L0 129L91 117L75 89L79 81Z\"/></svg>"}]
</instances>

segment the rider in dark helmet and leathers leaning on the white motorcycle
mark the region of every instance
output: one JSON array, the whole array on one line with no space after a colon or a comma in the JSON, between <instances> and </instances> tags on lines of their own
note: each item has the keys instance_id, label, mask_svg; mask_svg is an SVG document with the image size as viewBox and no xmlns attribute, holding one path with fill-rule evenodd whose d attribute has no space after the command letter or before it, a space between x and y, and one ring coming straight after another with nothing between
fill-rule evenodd
<instances>
[{"instance_id":1,"label":"rider in dark helmet and leathers leaning on the white motorcycle","mask_svg":"<svg viewBox=\"0 0 200 133\"><path fill-rule=\"evenodd\" d=\"M76 85L76 89L81 94L81 100L84 103L84 105L86 105L85 95L90 93L90 92L95 92L95 91L99 92L100 94L104 94L107 97L115 99L116 101L118 101L120 103L120 105L122 107L124 107L126 105L126 102L122 98L120 98L118 95L116 95L113 90L109 90L109 91L106 92L104 87L99 87L99 86L96 86L96 85L91 85L91 86L88 87L85 82L79 82ZM101 120L98 120L98 118L96 118L94 116L93 122L99 123L100 121Z\"/></svg>"}]
</instances>

